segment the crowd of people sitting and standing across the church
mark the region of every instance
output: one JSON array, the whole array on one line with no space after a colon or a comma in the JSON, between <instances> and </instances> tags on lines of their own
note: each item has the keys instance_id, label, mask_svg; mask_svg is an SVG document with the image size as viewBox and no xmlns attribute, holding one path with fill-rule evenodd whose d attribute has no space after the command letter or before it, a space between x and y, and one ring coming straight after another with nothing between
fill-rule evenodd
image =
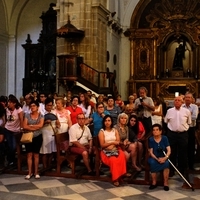
<instances>
[{"instance_id":1,"label":"crowd of people sitting and standing across the church","mask_svg":"<svg viewBox=\"0 0 200 200\"><path fill-rule=\"evenodd\" d=\"M175 173L169 157L183 175L187 168L194 170L199 109L189 92L175 97L172 108L167 108L160 96L152 99L147 93L145 87L140 87L138 95L130 95L127 103L120 95L116 99L111 95L96 98L91 91L79 95L69 91L63 97L34 92L19 101L14 95L1 96L1 160L5 166L15 163L15 135L32 131L32 143L25 144L28 166L25 178L39 179L39 155L43 168L48 168L56 153L53 135L68 133L70 151L82 156L87 174L93 176L92 139L98 137L101 162L109 166L115 186L120 185L124 176L131 176L128 163L133 171L145 168L144 155L148 150L152 177L149 189L156 188L156 174L163 171L164 190L168 191L168 178Z\"/></svg>"}]
</instances>

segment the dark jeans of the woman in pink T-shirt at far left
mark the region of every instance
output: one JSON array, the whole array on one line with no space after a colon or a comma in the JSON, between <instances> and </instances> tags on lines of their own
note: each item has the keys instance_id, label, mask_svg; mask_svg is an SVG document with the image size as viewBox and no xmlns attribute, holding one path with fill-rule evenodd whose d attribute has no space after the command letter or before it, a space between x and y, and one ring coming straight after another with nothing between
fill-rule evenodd
<instances>
[{"instance_id":1,"label":"dark jeans of the woman in pink T-shirt at far left","mask_svg":"<svg viewBox=\"0 0 200 200\"><path fill-rule=\"evenodd\" d=\"M16 151L16 140L15 140L15 132L9 131L8 129L4 129L4 136L8 145L7 159L8 162L15 161L15 151Z\"/></svg>"}]
</instances>

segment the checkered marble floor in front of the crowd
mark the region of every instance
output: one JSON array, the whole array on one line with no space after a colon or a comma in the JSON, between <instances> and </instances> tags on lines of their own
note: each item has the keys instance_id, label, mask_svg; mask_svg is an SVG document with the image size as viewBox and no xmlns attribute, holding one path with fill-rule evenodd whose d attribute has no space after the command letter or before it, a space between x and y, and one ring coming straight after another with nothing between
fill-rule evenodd
<instances>
[{"instance_id":1,"label":"checkered marble floor in front of the crowd","mask_svg":"<svg viewBox=\"0 0 200 200\"><path fill-rule=\"evenodd\" d=\"M142 176L142 173L141 175ZM195 175L200 178L200 175ZM200 199L200 189L182 188L183 181L176 174L169 179L169 191L162 186L149 190L147 185L123 183L114 187L109 182L41 176L25 180L22 175L0 175L0 200L187 200Z\"/></svg>"}]
</instances>

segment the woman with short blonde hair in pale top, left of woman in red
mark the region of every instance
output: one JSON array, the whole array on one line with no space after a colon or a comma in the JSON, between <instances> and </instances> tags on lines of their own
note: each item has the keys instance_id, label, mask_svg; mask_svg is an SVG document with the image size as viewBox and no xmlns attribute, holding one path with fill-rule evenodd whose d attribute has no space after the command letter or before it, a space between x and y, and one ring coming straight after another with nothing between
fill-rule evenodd
<instances>
[{"instance_id":1,"label":"woman with short blonde hair in pale top, left of woman in red","mask_svg":"<svg viewBox=\"0 0 200 200\"><path fill-rule=\"evenodd\" d=\"M54 114L60 122L60 127L57 129L58 133L67 132L72 125L70 112L64 108L64 105L65 101L63 98L56 99L56 109L54 110Z\"/></svg>"}]
</instances>

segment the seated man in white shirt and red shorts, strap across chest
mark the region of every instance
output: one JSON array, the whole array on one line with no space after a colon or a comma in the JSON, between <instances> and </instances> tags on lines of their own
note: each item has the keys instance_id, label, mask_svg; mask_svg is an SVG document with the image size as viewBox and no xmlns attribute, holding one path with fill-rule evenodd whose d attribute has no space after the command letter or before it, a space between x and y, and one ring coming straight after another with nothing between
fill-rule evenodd
<instances>
[{"instance_id":1,"label":"seated man in white shirt and red shorts, strap across chest","mask_svg":"<svg viewBox=\"0 0 200 200\"><path fill-rule=\"evenodd\" d=\"M92 153L92 135L90 129L85 126L85 115L77 115L77 123L69 129L69 141L72 143L70 151L80 154L88 170L88 175L95 175L89 164L89 155Z\"/></svg>"}]
</instances>

